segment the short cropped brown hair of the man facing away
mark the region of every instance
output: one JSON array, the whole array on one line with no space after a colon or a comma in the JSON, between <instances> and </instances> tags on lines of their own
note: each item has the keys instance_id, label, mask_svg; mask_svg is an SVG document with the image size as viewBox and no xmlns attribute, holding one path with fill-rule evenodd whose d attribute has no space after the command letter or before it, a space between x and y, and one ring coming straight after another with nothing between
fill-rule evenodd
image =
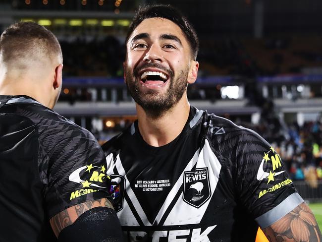
<instances>
[{"instance_id":1,"label":"short cropped brown hair of the man facing away","mask_svg":"<svg viewBox=\"0 0 322 242\"><path fill-rule=\"evenodd\" d=\"M24 70L37 63L62 63L54 34L33 22L15 23L5 29L0 37L0 64Z\"/></svg>"}]
</instances>

